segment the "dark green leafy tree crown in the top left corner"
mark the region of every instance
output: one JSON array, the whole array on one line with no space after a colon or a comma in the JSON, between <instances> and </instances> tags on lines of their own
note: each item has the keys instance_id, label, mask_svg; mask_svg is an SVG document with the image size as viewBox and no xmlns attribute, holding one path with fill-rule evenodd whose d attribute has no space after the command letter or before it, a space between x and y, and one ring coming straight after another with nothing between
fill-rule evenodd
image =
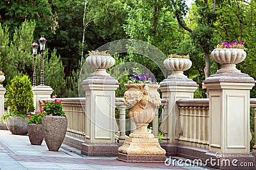
<instances>
[{"instance_id":1,"label":"dark green leafy tree crown in the top left corner","mask_svg":"<svg viewBox=\"0 0 256 170\"><path fill-rule=\"evenodd\" d=\"M49 37L56 29L56 20L46 0L0 2L0 22L10 29L10 36L13 36L15 28L19 28L25 20L35 20L35 37L38 34L46 34Z\"/></svg>"}]
</instances>

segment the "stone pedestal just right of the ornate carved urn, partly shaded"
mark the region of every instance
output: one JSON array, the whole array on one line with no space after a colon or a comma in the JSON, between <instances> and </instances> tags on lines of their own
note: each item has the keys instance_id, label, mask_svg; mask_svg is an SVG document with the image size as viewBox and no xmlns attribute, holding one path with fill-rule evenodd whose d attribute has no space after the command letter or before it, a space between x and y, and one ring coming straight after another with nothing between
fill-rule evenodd
<instances>
[{"instance_id":1,"label":"stone pedestal just right of the ornate carved urn, partly shaded","mask_svg":"<svg viewBox=\"0 0 256 170\"><path fill-rule=\"evenodd\" d=\"M168 100L168 107L164 107L161 115L160 131L164 136L162 141L175 145L179 139L179 108L176 101L179 99L193 99L198 85L186 76L177 78L168 76L159 84L162 98Z\"/></svg>"}]
</instances>

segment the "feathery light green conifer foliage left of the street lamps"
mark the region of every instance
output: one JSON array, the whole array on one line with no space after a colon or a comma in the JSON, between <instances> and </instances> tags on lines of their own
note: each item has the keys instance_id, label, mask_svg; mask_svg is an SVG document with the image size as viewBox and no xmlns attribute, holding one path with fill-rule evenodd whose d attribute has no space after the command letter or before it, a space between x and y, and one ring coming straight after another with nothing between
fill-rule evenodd
<instances>
[{"instance_id":1,"label":"feathery light green conifer foliage left of the street lamps","mask_svg":"<svg viewBox=\"0 0 256 170\"><path fill-rule=\"evenodd\" d=\"M19 29L15 29L13 38L10 39L9 28L3 28L0 24L0 69L4 70L6 76L3 85L9 84L14 76L22 76L23 74L32 76L31 42L34 31L35 22L25 20Z\"/></svg>"}]
</instances>

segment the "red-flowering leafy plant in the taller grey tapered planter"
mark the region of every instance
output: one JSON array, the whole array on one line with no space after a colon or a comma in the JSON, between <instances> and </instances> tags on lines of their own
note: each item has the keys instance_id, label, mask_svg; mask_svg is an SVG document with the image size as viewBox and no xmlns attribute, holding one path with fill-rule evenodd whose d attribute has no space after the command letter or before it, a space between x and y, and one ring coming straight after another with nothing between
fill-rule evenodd
<instances>
[{"instance_id":1,"label":"red-flowering leafy plant in the taller grey tapered planter","mask_svg":"<svg viewBox=\"0 0 256 170\"><path fill-rule=\"evenodd\" d=\"M57 100L55 99L57 95L52 96L53 101L46 101L45 104L41 104L40 108L42 108L44 115L50 115L50 116L60 116L60 117L66 117L65 112L63 111L61 101L62 99Z\"/></svg>"}]
</instances>

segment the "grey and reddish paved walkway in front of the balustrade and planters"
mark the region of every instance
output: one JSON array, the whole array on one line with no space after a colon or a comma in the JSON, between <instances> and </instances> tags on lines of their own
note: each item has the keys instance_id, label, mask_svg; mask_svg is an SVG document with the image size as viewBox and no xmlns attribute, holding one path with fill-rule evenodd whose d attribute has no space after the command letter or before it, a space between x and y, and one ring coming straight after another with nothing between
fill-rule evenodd
<instances>
[{"instance_id":1,"label":"grey and reddish paved walkway in front of the balustrade and planters","mask_svg":"<svg viewBox=\"0 0 256 170\"><path fill-rule=\"evenodd\" d=\"M79 150L61 145L59 152L31 145L28 136L13 135L0 130L0 169L205 169L204 167L166 166L164 163L127 163L116 157L86 157Z\"/></svg>"}]
</instances>

